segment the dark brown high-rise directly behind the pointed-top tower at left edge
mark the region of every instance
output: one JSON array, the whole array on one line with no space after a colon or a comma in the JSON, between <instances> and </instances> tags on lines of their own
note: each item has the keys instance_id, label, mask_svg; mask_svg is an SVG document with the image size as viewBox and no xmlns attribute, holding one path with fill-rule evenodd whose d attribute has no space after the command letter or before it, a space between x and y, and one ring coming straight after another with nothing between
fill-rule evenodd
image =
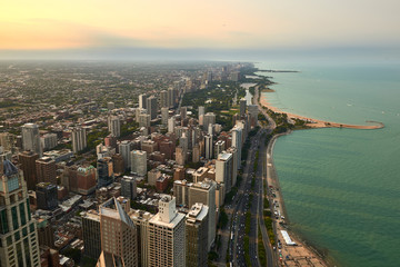
<instances>
[{"instance_id":1,"label":"dark brown high-rise directly behind the pointed-top tower at left edge","mask_svg":"<svg viewBox=\"0 0 400 267\"><path fill-rule=\"evenodd\" d=\"M36 160L39 159L39 155L33 151L22 151L18 155L18 161L21 165L23 171L23 178L27 181L28 190L34 190L38 184Z\"/></svg>"}]
</instances>

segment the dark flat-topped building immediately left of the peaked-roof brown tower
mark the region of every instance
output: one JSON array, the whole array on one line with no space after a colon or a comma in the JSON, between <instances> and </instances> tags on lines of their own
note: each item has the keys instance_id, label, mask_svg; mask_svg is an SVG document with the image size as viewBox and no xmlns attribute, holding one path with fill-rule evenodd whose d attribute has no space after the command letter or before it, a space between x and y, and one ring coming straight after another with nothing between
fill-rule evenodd
<instances>
[{"instance_id":1,"label":"dark flat-topped building immediately left of the peaked-roof brown tower","mask_svg":"<svg viewBox=\"0 0 400 267\"><path fill-rule=\"evenodd\" d=\"M89 210L82 216L83 254L98 259L101 254L100 215Z\"/></svg>"}]
</instances>

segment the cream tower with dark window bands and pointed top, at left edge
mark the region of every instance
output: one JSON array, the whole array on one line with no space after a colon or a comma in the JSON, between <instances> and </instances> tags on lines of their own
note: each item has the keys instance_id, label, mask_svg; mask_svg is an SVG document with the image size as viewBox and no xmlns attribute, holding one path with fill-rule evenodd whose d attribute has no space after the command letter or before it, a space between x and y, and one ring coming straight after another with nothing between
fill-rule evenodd
<instances>
[{"instance_id":1,"label":"cream tower with dark window bands and pointed top, at left edge","mask_svg":"<svg viewBox=\"0 0 400 267\"><path fill-rule=\"evenodd\" d=\"M0 161L0 265L39 267L37 226L31 217L27 184L9 160Z\"/></svg>"}]
</instances>

